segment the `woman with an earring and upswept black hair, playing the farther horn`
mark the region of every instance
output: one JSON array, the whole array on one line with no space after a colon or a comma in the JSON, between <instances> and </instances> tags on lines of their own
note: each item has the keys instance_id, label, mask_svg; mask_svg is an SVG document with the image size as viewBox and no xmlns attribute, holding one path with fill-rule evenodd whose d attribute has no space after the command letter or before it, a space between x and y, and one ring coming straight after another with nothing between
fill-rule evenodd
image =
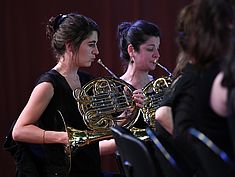
<instances>
[{"instance_id":1,"label":"woman with an earring and upswept black hair, playing the farther horn","mask_svg":"<svg viewBox=\"0 0 235 177\"><path fill-rule=\"evenodd\" d=\"M118 26L117 37L125 71L120 79L135 89L143 89L156 79L149 72L155 70L160 58L160 30L157 25L145 20L122 22ZM143 115L140 114L134 127L145 128L146 125ZM112 146L112 143L115 147L114 141L101 142L101 153L105 152L106 146Z\"/></svg>"}]
</instances>

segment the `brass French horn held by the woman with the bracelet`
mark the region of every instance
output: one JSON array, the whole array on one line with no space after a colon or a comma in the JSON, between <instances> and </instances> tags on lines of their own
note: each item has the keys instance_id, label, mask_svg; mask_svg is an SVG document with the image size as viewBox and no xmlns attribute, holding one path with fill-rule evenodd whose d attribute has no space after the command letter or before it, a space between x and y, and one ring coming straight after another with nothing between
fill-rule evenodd
<instances>
[{"instance_id":1,"label":"brass French horn held by the woman with the bracelet","mask_svg":"<svg viewBox=\"0 0 235 177\"><path fill-rule=\"evenodd\" d=\"M66 126L70 148L110 139L111 126L118 124L130 128L137 121L140 111L132 99L133 87L113 73L112 76L93 79L73 91L89 130Z\"/></svg>"}]
</instances>

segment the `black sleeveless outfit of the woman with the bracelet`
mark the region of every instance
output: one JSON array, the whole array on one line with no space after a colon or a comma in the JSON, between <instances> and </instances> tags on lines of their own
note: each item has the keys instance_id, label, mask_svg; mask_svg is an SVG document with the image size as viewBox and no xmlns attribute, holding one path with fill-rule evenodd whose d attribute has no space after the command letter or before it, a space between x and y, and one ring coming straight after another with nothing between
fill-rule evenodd
<instances>
[{"instance_id":1,"label":"black sleeveless outfit of the woman with the bracelet","mask_svg":"<svg viewBox=\"0 0 235 177\"><path fill-rule=\"evenodd\" d=\"M81 86L92 79L90 75L83 72L78 72L78 75L81 81ZM43 126L45 130L60 128L55 127L55 125L58 125L59 121L61 121L58 120L58 116L56 116L58 115L56 111L59 110L61 111L67 126L71 126L78 130L87 129L86 125L83 122L83 118L79 113L77 102L73 97L73 90L68 85L66 79L57 71L51 70L41 76L38 84L41 82L52 83L54 87L54 96L40 118L40 126ZM56 117L57 120L54 120L54 117ZM55 122L57 123L55 124ZM57 148L59 152L55 152L55 145L44 145L44 152L46 153L45 157L47 157L46 163L48 165L48 171L51 169L50 164L53 164L54 166L62 166L62 162L60 162L61 160L55 158L58 157L58 153L63 154L63 148L60 149L59 146L60 145L58 145ZM63 159L61 157L59 158ZM72 151L71 158L71 171L69 176L100 176L101 168L98 143L74 149Z\"/></svg>"}]
</instances>

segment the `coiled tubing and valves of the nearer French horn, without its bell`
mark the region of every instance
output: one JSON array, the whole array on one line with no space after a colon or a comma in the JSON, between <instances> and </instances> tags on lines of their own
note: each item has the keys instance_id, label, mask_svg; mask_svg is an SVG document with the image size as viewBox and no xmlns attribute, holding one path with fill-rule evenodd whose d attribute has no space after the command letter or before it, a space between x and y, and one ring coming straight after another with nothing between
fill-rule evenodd
<instances>
[{"instance_id":1,"label":"coiled tubing and valves of the nearer French horn, without its bell","mask_svg":"<svg viewBox=\"0 0 235 177\"><path fill-rule=\"evenodd\" d=\"M100 131L115 124L129 128L137 121L139 110L132 92L133 87L125 81L102 77L75 91L74 97L88 129Z\"/></svg>"}]
</instances>

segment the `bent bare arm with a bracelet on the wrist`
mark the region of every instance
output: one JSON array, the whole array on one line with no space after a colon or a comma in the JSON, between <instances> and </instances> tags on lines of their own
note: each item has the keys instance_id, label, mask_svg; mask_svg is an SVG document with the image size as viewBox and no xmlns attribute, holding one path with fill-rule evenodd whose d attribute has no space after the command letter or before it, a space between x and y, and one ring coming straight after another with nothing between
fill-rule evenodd
<instances>
[{"instance_id":1,"label":"bent bare arm with a bracelet on the wrist","mask_svg":"<svg viewBox=\"0 0 235 177\"><path fill-rule=\"evenodd\" d=\"M28 103L13 128L12 137L15 141L35 144L68 143L66 132L45 131L35 125L49 104L53 94L54 89L47 82L43 82L34 88Z\"/></svg>"}]
</instances>

